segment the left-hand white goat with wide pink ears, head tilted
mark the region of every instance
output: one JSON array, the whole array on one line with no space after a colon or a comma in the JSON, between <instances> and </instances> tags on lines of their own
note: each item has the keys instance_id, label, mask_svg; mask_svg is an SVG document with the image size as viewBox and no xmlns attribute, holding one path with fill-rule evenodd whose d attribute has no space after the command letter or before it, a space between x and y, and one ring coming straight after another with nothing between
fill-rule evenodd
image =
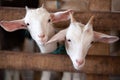
<instances>
[{"instance_id":1,"label":"left-hand white goat with wide pink ears, head tilted","mask_svg":"<svg viewBox=\"0 0 120 80\"><path fill-rule=\"evenodd\" d=\"M37 9L28 9L26 7L26 15L23 19L1 21L0 25L9 32L18 29L28 29L32 38L39 46L41 53L50 53L57 48L56 42L45 45L45 43L55 34L52 23L68 20L69 12L71 11L72 10L49 13L43 6ZM49 77L45 76L45 78Z\"/></svg>"}]
</instances>

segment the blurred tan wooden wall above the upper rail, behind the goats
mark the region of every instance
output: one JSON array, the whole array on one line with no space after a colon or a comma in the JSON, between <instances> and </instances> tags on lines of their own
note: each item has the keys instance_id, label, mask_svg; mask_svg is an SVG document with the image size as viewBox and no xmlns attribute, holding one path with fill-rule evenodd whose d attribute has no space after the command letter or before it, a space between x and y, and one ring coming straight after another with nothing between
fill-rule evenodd
<instances>
[{"instance_id":1,"label":"blurred tan wooden wall above the upper rail, behind the goats","mask_svg":"<svg viewBox=\"0 0 120 80\"><path fill-rule=\"evenodd\" d=\"M77 11L100 12L120 11L120 0L42 0L41 4L42 3L45 3L46 6L51 9L74 9Z\"/></svg>"}]
</instances>

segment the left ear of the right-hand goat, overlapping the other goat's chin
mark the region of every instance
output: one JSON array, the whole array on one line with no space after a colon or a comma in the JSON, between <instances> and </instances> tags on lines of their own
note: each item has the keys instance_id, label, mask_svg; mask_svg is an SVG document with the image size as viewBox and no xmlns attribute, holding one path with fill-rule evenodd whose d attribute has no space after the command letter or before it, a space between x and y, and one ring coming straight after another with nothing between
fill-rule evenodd
<instances>
[{"instance_id":1,"label":"left ear of the right-hand goat, overlapping the other goat's chin","mask_svg":"<svg viewBox=\"0 0 120 80\"><path fill-rule=\"evenodd\" d=\"M65 41L66 31L67 29L61 30L60 32L55 34L46 44Z\"/></svg>"}]
</instances>

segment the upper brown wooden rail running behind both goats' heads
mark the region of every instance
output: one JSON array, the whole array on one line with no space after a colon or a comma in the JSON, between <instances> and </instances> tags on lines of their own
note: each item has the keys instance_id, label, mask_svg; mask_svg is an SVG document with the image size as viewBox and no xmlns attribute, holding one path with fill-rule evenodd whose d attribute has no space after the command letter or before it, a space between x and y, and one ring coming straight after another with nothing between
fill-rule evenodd
<instances>
[{"instance_id":1,"label":"upper brown wooden rail running behind both goats' heads","mask_svg":"<svg viewBox=\"0 0 120 80\"><path fill-rule=\"evenodd\" d=\"M48 10L56 12L55 10ZM13 20L24 17L25 9L23 8L4 8L0 7L0 20ZM84 24L87 23L89 18L94 15L94 29L95 30L120 30L120 13L110 12L75 12L75 18ZM68 27L69 21L55 24L55 27L65 28Z\"/></svg>"}]
</instances>

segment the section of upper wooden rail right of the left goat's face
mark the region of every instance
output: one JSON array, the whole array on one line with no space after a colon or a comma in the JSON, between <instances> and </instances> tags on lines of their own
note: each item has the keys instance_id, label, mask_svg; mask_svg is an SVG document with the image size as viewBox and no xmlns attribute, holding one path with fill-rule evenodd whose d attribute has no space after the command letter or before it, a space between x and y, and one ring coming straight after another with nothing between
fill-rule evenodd
<instances>
[{"instance_id":1,"label":"section of upper wooden rail right of the left goat's face","mask_svg":"<svg viewBox=\"0 0 120 80\"><path fill-rule=\"evenodd\" d=\"M86 24L91 16L95 16L94 30L120 30L120 13L108 12L76 12L75 19ZM66 24L65 24L66 23ZM69 21L54 24L55 27L65 28L69 26Z\"/></svg>"}]
</instances>

